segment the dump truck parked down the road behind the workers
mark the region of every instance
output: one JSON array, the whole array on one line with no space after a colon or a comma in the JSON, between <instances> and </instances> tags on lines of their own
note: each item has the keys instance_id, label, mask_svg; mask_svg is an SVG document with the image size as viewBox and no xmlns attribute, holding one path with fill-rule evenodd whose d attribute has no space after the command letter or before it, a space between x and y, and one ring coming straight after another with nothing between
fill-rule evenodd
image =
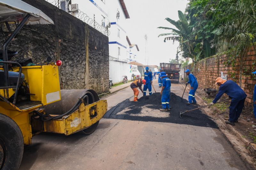
<instances>
[{"instance_id":1,"label":"dump truck parked down the road behind the workers","mask_svg":"<svg viewBox=\"0 0 256 170\"><path fill-rule=\"evenodd\" d=\"M160 63L160 68L167 74L171 82L179 83L180 80L180 64Z\"/></svg>"}]
</instances>

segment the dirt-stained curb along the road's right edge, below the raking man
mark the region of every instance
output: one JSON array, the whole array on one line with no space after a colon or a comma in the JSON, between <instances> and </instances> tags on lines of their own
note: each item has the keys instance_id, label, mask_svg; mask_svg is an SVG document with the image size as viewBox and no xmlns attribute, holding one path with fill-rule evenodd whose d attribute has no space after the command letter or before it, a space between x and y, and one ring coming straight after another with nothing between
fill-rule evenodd
<instances>
[{"instance_id":1,"label":"dirt-stained curb along the road's right edge, below the raking man","mask_svg":"<svg viewBox=\"0 0 256 170\"><path fill-rule=\"evenodd\" d=\"M186 91L188 91L188 90L186 89ZM204 100L203 100L200 96L198 96L197 94L195 94L195 96L204 102ZM202 109L204 110L204 108L202 108ZM206 111L204 110L204 112L206 112ZM210 115L208 115L208 116L210 116ZM210 116L210 117L211 117L211 116ZM225 127L227 127L227 129L228 129L229 131L231 131L232 133L234 133L235 136L236 136L238 139L240 139L240 140L244 143L244 145L246 145L247 147L250 147L250 149L252 149L252 151L256 151L256 145L255 145L254 143L250 142L250 141L249 141L248 139L246 139L246 138L243 138L243 137L242 137L243 135L242 135L239 131L237 131L232 125L226 124L226 123L225 123L225 119L222 118L220 115L217 115L217 118L222 122L222 124L224 124ZM225 136L226 136L226 135L225 135ZM254 144L254 145L253 145L253 144Z\"/></svg>"}]
</instances>

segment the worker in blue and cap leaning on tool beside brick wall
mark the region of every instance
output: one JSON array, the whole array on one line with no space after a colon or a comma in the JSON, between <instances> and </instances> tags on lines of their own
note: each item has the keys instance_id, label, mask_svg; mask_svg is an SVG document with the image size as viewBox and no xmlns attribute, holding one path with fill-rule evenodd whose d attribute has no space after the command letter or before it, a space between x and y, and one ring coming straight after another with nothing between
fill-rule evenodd
<instances>
[{"instance_id":1,"label":"worker in blue and cap leaning on tool beside brick wall","mask_svg":"<svg viewBox=\"0 0 256 170\"><path fill-rule=\"evenodd\" d=\"M196 80L196 77L190 73L189 69L187 69L185 71L186 75L188 75L188 82L186 83L186 85L190 84L190 90L188 93L188 105L190 104L196 104L196 98L195 98L195 93L196 93L196 89L198 88L198 83ZM192 103L193 101L193 103Z\"/></svg>"}]
</instances>

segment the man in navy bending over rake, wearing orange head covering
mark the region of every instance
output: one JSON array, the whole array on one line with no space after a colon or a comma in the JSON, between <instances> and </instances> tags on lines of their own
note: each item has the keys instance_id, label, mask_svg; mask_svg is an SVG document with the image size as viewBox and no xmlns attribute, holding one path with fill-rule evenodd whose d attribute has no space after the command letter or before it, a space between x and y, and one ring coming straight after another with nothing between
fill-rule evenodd
<instances>
[{"instance_id":1,"label":"man in navy bending over rake, wearing orange head covering","mask_svg":"<svg viewBox=\"0 0 256 170\"><path fill-rule=\"evenodd\" d=\"M215 104L220 99L220 97L226 93L229 98L231 98L231 103L229 106L229 119L225 121L225 123L235 125L235 123L238 122L238 118L240 117L244 108L244 101L247 95L232 80L223 80L222 78L218 77L215 82L215 84L218 84L220 88L219 93L216 95L211 104Z\"/></svg>"}]
</instances>

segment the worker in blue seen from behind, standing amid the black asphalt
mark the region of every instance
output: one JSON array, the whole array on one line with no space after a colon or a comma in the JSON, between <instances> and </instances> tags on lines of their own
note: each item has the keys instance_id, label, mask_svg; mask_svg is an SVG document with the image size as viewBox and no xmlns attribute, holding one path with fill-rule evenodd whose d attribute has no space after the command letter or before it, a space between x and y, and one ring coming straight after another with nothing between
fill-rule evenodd
<instances>
[{"instance_id":1,"label":"worker in blue seen from behind, standing amid the black asphalt","mask_svg":"<svg viewBox=\"0 0 256 170\"><path fill-rule=\"evenodd\" d=\"M163 87L161 90L161 102L162 109L160 111L168 111L170 110L169 101L170 101L170 89L171 89L171 80L167 77L165 72L161 73L161 77L163 79Z\"/></svg>"}]
</instances>

